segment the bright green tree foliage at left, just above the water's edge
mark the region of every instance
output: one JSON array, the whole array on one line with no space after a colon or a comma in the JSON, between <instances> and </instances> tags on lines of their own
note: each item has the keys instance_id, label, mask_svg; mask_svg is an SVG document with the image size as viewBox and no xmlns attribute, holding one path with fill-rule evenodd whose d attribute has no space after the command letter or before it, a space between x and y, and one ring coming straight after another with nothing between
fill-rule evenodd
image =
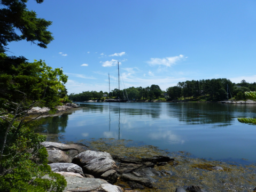
<instances>
[{"instance_id":1,"label":"bright green tree foliage at left, just above the water's edge","mask_svg":"<svg viewBox=\"0 0 256 192\"><path fill-rule=\"evenodd\" d=\"M27 62L24 57L0 53L0 107L6 100L20 103L25 94L27 104L38 102L53 109L66 93L67 77L61 68L53 70L42 60Z\"/></svg>"}]
</instances>

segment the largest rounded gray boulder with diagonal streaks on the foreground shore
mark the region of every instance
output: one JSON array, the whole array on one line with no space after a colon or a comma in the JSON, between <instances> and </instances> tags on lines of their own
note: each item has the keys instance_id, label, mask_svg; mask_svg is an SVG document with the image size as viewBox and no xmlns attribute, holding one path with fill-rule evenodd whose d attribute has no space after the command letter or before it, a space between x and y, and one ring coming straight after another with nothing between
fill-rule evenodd
<instances>
[{"instance_id":1,"label":"largest rounded gray boulder with diagonal streaks on the foreground shore","mask_svg":"<svg viewBox=\"0 0 256 192\"><path fill-rule=\"evenodd\" d=\"M108 182L117 181L117 165L110 154L87 150L75 156L72 163L82 167L83 173L94 175L96 178L104 178Z\"/></svg>"}]
</instances>

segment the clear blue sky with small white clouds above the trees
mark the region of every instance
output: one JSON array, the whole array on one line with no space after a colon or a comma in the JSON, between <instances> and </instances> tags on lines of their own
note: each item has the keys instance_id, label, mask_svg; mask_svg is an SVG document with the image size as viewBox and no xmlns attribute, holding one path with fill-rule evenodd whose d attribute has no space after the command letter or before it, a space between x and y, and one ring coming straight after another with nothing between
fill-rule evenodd
<instances>
[{"instance_id":1,"label":"clear blue sky with small white clouds above the trees","mask_svg":"<svg viewBox=\"0 0 256 192\"><path fill-rule=\"evenodd\" d=\"M52 21L48 49L26 41L9 55L63 67L68 94L116 85L117 60L125 87L228 78L256 82L256 1L28 1ZM114 83L115 82L115 83Z\"/></svg>"}]
</instances>

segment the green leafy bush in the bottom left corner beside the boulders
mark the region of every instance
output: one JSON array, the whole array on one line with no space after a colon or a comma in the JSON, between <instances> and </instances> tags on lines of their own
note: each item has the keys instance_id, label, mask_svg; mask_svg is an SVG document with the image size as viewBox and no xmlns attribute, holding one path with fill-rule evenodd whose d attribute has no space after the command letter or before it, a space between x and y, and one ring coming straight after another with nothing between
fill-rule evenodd
<instances>
[{"instance_id":1,"label":"green leafy bush in the bottom left corner beside the boulders","mask_svg":"<svg viewBox=\"0 0 256 192\"><path fill-rule=\"evenodd\" d=\"M14 118L11 114L0 118L0 191L63 191L66 180L51 172L48 153L40 145L45 137L35 134L32 124L19 128L20 121L11 121ZM53 180L43 179L45 174Z\"/></svg>"}]
</instances>

